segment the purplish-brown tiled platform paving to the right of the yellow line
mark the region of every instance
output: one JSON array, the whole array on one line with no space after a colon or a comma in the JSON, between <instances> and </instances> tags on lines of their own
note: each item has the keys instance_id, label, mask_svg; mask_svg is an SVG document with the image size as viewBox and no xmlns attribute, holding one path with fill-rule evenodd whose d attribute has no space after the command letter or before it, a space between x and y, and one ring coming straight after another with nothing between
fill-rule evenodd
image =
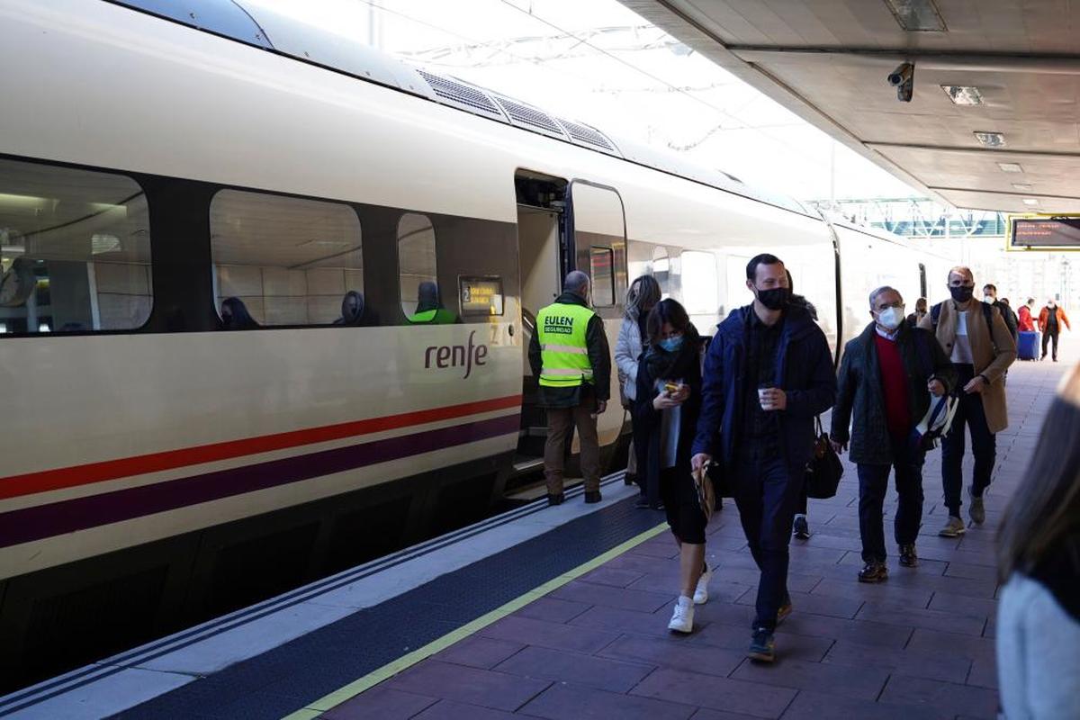
<instances>
[{"instance_id":1,"label":"purplish-brown tiled platform paving to the right of the yellow line","mask_svg":"<svg viewBox=\"0 0 1080 720\"><path fill-rule=\"evenodd\" d=\"M998 435L984 526L959 539L936 535L946 514L941 451L928 456L918 568L899 567L893 555L886 583L856 582L853 466L836 498L810 502L813 535L792 542L795 612L777 634L773 665L745 658L757 570L727 501L708 529L707 556L717 571L691 635L666 629L678 561L663 533L323 717L995 718L994 536L1055 386L1076 358L1066 352L1059 364L1017 363L1010 370L1010 426ZM890 545L894 508L893 497L885 518Z\"/></svg>"}]
</instances>

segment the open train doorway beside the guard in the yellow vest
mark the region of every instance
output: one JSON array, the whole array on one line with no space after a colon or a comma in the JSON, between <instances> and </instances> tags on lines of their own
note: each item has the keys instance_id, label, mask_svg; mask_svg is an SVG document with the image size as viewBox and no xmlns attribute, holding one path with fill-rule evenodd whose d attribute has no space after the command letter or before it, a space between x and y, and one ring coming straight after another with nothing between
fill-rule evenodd
<instances>
[{"instance_id":1,"label":"open train doorway beside the guard in the yellow vest","mask_svg":"<svg viewBox=\"0 0 1080 720\"><path fill-rule=\"evenodd\" d=\"M529 367L529 341L537 312L558 297L569 271L565 228L566 180L521 171L517 194L517 256L522 279L522 426L514 459L516 474L543 466L548 422L537 406L537 378Z\"/></svg>"}]
</instances>

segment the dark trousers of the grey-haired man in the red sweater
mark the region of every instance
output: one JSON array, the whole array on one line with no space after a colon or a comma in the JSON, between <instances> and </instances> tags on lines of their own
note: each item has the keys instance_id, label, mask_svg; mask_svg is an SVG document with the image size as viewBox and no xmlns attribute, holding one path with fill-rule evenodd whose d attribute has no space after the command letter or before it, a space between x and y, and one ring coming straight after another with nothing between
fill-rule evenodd
<instances>
[{"instance_id":1,"label":"dark trousers of the grey-haired man in the red sweater","mask_svg":"<svg viewBox=\"0 0 1080 720\"><path fill-rule=\"evenodd\" d=\"M922 461L926 451L906 440L892 441L892 465L859 463L859 534L863 540L863 562L885 562L885 522L881 518L889 491L889 470L895 468L899 504L893 520L897 545L910 545L922 524Z\"/></svg>"}]
</instances>

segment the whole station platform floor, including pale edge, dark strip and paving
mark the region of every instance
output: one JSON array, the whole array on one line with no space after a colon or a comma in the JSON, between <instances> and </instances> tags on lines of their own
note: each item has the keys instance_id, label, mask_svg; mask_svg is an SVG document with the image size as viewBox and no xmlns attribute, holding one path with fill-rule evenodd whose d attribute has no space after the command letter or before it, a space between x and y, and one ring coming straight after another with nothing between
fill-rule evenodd
<instances>
[{"instance_id":1,"label":"whole station platform floor, including pale edge, dark strip and paving","mask_svg":"<svg viewBox=\"0 0 1080 720\"><path fill-rule=\"evenodd\" d=\"M0 717L995 718L994 536L1077 358L1010 370L985 525L936 535L928 456L918 568L856 582L854 467L810 502L772 665L745 658L757 570L733 503L708 530L711 599L674 635L677 548L617 475L598 506L538 501L2 697Z\"/></svg>"}]
</instances>

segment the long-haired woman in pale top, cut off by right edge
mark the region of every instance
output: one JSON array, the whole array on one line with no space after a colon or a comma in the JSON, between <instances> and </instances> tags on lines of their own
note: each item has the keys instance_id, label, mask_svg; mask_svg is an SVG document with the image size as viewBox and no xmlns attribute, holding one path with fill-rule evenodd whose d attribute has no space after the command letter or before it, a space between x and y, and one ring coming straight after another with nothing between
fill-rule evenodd
<instances>
[{"instance_id":1,"label":"long-haired woman in pale top, cut off by right edge","mask_svg":"<svg viewBox=\"0 0 1080 720\"><path fill-rule=\"evenodd\" d=\"M1080 717L1080 367L1062 383L998 530L1009 720Z\"/></svg>"}]
</instances>

